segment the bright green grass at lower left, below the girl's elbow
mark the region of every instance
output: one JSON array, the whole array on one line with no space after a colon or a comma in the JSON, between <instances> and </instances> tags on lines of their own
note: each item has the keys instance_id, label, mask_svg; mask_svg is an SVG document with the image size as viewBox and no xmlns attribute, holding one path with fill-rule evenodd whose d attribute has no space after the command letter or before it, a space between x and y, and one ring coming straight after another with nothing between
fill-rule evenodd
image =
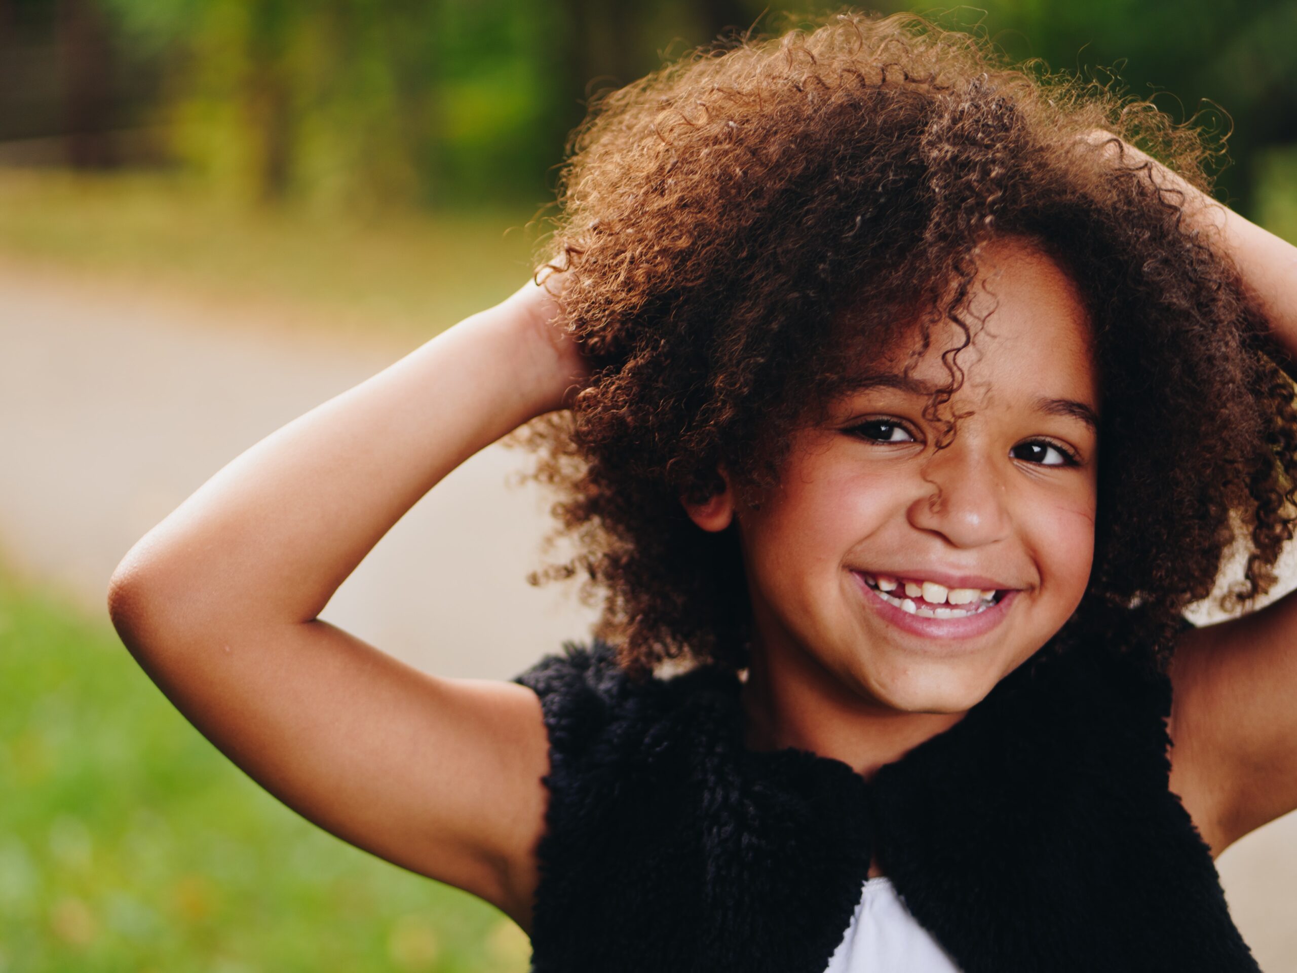
<instances>
[{"instance_id":1,"label":"bright green grass at lower left, below the girl's elbow","mask_svg":"<svg viewBox=\"0 0 1297 973\"><path fill-rule=\"evenodd\" d=\"M0 568L0 970L525 970L479 899L276 802L105 618Z\"/></svg>"}]
</instances>

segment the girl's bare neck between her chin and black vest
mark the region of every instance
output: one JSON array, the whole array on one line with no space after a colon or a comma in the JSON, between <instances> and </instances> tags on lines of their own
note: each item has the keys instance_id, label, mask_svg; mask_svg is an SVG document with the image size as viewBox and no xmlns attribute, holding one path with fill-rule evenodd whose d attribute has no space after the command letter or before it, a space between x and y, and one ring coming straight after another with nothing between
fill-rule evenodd
<instances>
[{"instance_id":1,"label":"girl's bare neck between her chin and black vest","mask_svg":"<svg viewBox=\"0 0 1297 973\"><path fill-rule=\"evenodd\" d=\"M809 750L842 760L865 780L964 717L885 706L791 647L770 653L754 646L739 698L750 750Z\"/></svg>"}]
</instances>

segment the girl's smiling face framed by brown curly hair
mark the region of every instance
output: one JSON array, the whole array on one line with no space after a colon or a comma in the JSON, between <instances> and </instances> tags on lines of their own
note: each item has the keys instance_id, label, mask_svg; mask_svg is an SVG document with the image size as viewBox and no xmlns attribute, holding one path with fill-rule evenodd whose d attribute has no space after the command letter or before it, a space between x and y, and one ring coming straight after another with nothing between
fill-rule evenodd
<instances>
[{"instance_id":1,"label":"girl's smiling face framed by brown curly hair","mask_svg":"<svg viewBox=\"0 0 1297 973\"><path fill-rule=\"evenodd\" d=\"M982 699L1067 620L1093 559L1100 402L1082 300L1022 240L984 253L973 311L995 310L958 357L953 442L934 450L940 428L922 416L948 381L942 350L961 342L943 322L910 380L908 346L881 355L830 422L796 433L759 507L729 489L690 507L706 529L737 518L756 653L894 710Z\"/></svg>"}]
</instances>

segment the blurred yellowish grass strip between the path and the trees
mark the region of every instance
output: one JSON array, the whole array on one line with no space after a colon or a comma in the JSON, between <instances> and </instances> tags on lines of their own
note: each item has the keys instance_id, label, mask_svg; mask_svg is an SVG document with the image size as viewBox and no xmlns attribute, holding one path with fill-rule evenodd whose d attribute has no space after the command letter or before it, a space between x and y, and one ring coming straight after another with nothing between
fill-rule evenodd
<instances>
[{"instance_id":1,"label":"blurred yellowish grass strip between the path and the trees","mask_svg":"<svg viewBox=\"0 0 1297 973\"><path fill-rule=\"evenodd\" d=\"M503 300L532 271L534 215L344 219L236 205L174 175L0 169L0 258L266 302L348 332L431 336Z\"/></svg>"}]
</instances>

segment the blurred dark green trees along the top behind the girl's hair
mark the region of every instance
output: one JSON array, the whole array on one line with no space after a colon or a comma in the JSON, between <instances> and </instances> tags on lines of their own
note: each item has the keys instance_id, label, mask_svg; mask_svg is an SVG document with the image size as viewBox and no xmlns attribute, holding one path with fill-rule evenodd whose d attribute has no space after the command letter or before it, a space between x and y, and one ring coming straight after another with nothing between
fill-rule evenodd
<instances>
[{"instance_id":1,"label":"blurred dark green trees along the top behind the girl's hair","mask_svg":"<svg viewBox=\"0 0 1297 973\"><path fill-rule=\"evenodd\" d=\"M1222 182L1244 210L1266 150L1297 141L1297 0L910 9L981 25L1013 57L1101 82L1115 70L1176 118L1209 108L1211 125L1233 128ZM787 26L787 12L760 0L0 0L0 160L162 165L232 200L335 211L537 206L590 95L721 31Z\"/></svg>"}]
</instances>

